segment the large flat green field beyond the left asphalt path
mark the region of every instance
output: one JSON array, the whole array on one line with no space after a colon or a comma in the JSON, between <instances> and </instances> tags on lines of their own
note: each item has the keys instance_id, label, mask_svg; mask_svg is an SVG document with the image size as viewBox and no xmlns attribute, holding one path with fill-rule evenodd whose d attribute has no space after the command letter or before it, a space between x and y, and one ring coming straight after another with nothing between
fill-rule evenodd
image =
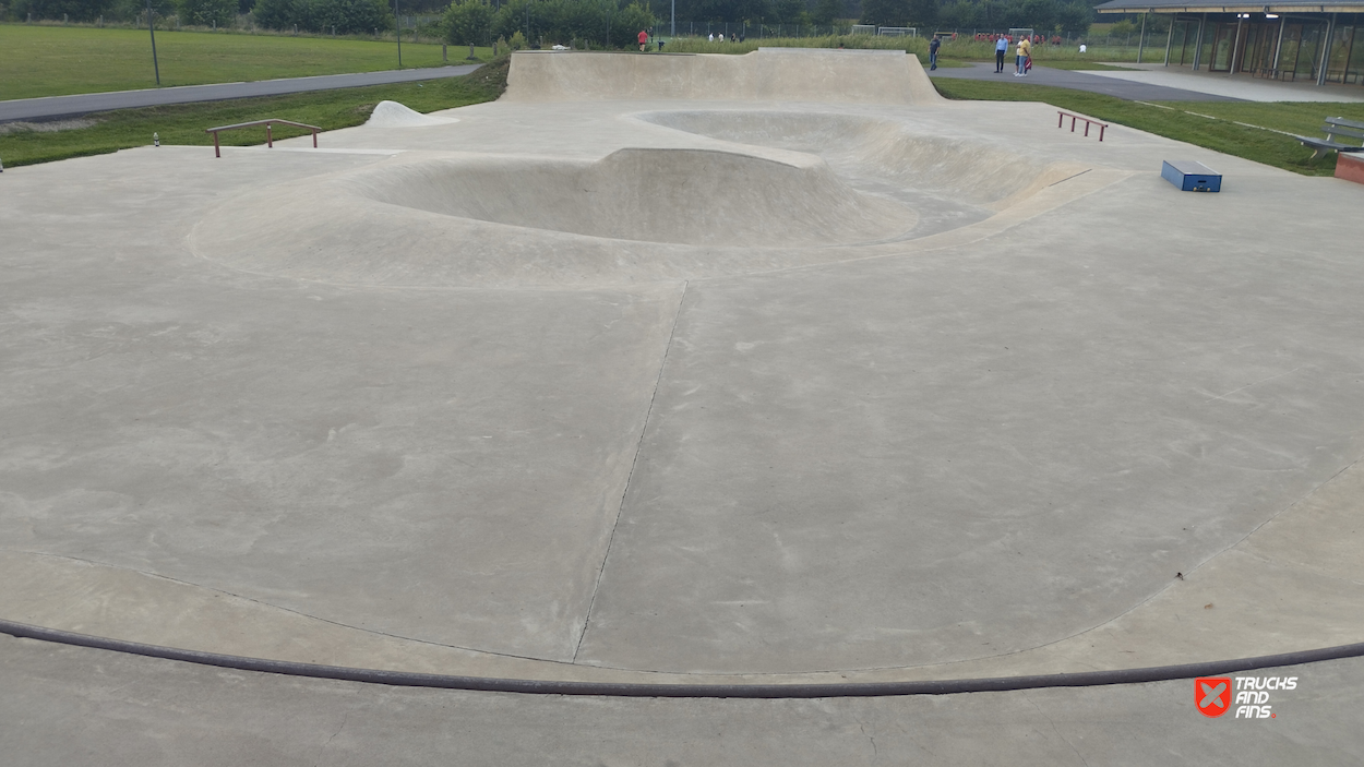
<instances>
[{"instance_id":1,"label":"large flat green field beyond the left asphalt path","mask_svg":"<svg viewBox=\"0 0 1364 767\"><path fill-rule=\"evenodd\" d=\"M491 48L475 50L483 60ZM450 64L468 48L451 46ZM161 85L397 70L394 41L157 30ZM402 67L439 67L441 46L402 44ZM147 30L0 25L0 100L155 87Z\"/></svg>"}]
</instances>

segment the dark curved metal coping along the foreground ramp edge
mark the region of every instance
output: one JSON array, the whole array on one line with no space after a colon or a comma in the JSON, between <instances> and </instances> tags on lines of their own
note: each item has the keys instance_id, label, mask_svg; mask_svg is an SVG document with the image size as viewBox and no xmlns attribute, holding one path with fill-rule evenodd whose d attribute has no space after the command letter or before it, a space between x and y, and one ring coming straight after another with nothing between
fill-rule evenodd
<instances>
[{"instance_id":1,"label":"dark curved metal coping along the foreground ramp edge","mask_svg":"<svg viewBox=\"0 0 1364 767\"><path fill-rule=\"evenodd\" d=\"M637 684L637 682L570 682L552 680L502 680L495 677L454 677L445 674L416 674L411 671L382 671L376 669L349 669L345 666L319 666L292 661L267 661L263 658L243 658L218 652L176 650L139 641L104 639L83 633L33 626L15 621L0 620L0 633L22 639L40 639L76 647L112 650L183 661L205 666L239 669L243 671L263 671L292 677L312 677L319 680L342 680L352 682L385 684L394 686L432 686L445 689L468 689L484 692L520 692L529 695L591 695L604 697L889 697L903 695L956 695L963 692L1005 692L1012 689L1037 689L1049 686L1097 686L1118 684L1159 682L1168 680L1188 680L1195 677L1218 677L1237 671L1270 669L1275 666L1299 666L1320 661L1364 656L1364 643L1341 644L1322 650L1282 652L1234 661L1210 661L1207 663L1184 663L1178 666L1150 666L1146 669L1121 669L1113 671L1082 671L1078 674L1037 674L1028 677L993 677L978 680L903 681L903 682L829 682L829 684Z\"/></svg>"}]
</instances>

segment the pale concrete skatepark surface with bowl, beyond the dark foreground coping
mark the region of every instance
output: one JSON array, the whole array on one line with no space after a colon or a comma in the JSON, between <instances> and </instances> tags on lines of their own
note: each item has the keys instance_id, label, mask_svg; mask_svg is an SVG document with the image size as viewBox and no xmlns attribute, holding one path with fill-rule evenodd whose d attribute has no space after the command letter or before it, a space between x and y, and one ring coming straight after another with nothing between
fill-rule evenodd
<instances>
[{"instance_id":1,"label":"pale concrete skatepark surface with bowl, beyond the dark foreground coping","mask_svg":"<svg viewBox=\"0 0 1364 767\"><path fill-rule=\"evenodd\" d=\"M1054 119L522 52L319 150L7 171L0 631L619 695L1359 654L1364 188Z\"/></svg>"}]
</instances>

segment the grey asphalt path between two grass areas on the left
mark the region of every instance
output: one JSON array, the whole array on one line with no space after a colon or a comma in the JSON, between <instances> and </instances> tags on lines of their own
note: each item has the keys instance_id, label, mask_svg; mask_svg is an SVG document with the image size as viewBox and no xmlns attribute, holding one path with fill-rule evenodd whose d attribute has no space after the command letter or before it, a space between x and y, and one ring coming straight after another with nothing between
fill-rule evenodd
<instances>
[{"instance_id":1,"label":"grey asphalt path between two grass areas on the left","mask_svg":"<svg viewBox=\"0 0 1364 767\"><path fill-rule=\"evenodd\" d=\"M138 106L164 106L166 104L224 101L228 98L281 96L285 93L304 93L310 90L334 90L340 87L361 87L367 85L434 81L466 75L479 67L480 64L464 64L460 67L432 67L426 70L393 70L386 72L359 72L352 75L319 75L312 78L286 78L277 81L190 85L147 90L119 90L112 93L83 93L79 96L50 96L46 98L15 98L12 101L0 101L0 123L12 123L15 120L55 120L57 117L75 117L79 115L89 115L91 112L132 109Z\"/></svg>"}]
</instances>

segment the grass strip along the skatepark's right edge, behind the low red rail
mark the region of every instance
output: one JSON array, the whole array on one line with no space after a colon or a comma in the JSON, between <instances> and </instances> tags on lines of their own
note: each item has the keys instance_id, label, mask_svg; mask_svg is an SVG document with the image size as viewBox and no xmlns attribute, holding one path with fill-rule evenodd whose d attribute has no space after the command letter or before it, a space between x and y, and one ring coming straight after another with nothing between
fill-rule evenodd
<instances>
[{"instance_id":1,"label":"grass strip along the skatepark's right edge, behind the low red rail","mask_svg":"<svg viewBox=\"0 0 1364 767\"><path fill-rule=\"evenodd\" d=\"M1320 135L1322 119L1326 116L1364 120L1364 104L1166 101L1148 105L1097 93L1027 83L940 78L934 79L933 85L943 96L956 100L1042 101L1108 123L1128 126L1307 176L1333 175L1335 156L1330 154L1314 161L1311 160L1311 149L1304 147L1292 136L1274 131L1311 136Z\"/></svg>"}]
</instances>

